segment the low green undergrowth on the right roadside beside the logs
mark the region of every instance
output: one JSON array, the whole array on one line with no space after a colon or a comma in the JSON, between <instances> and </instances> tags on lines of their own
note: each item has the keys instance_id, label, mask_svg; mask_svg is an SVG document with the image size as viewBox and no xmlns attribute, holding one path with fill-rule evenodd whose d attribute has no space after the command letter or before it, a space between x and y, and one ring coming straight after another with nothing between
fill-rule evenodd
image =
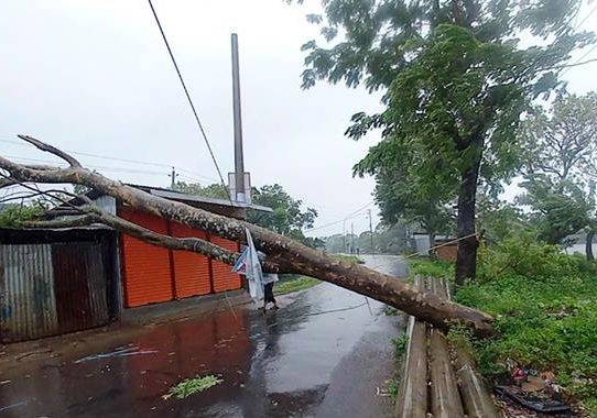
<instances>
[{"instance_id":1,"label":"low green undergrowth on the right roadside beside the logs","mask_svg":"<svg viewBox=\"0 0 597 418\"><path fill-rule=\"evenodd\" d=\"M456 301L496 318L498 337L471 340L479 371L506 377L513 364L550 371L567 396L597 414L597 264L529 237L481 249L479 277ZM452 277L453 266L416 260L420 274ZM449 338L466 338L458 330Z\"/></svg>"}]
</instances>

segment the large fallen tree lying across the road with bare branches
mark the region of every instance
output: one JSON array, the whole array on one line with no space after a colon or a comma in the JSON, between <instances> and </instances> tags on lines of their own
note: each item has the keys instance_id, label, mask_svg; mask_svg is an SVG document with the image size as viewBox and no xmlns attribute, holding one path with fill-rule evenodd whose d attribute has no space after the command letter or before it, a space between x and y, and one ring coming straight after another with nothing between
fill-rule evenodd
<instances>
[{"instance_id":1,"label":"large fallen tree lying across the road with bare branches","mask_svg":"<svg viewBox=\"0 0 597 418\"><path fill-rule=\"evenodd\" d=\"M115 182L85 168L76 158L52 145L26 135L19 135L19 138L41 151L61 157L69 166L61 168L18 164L0 156L0 169L8 173L1 175L3 182L0 183L0 187L14 185L15 183L84 185L112 196L121 204L137 210L237 242L246 242L246 229L248 229L253 237L256 246L268 254L264 266L267 271L317 277L380 300L441 329L447 329L453 324L462 324L473 329L480 336L488 336L493 332L493 320L484 312L445 300L430 293L419 292L413 286L395 277L366 266L335 260L322 251L307 248L264 228L153 196L120 182ZM29 226L66 227L99 222L155 245L194 251L228 264L232 264L238 255L205 240L159 234L106 213L90 200L80 207L73 206L70 209L79 213L79 216L66 220L34 222Z\"/></svg>"}]
</instances>

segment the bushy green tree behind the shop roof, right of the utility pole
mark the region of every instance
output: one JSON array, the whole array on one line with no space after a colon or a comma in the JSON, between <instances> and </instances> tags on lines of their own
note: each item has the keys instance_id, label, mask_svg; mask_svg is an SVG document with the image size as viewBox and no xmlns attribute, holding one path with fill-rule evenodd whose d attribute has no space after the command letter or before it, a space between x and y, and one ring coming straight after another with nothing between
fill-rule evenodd
<instances>
[{"instance_id":1,"label":"bushy green tree behind the shop roof, right of the utility pole","mask_svg":"<svg viewBox=\"0 0 597 418\"><path fill-rule=\"evenodd\" d=\"M311 246L321 246L323 242L306 238L304 229L313 227L317 211L313 208L303 209L303 201L291 197L282 186L265 185L251 190L253 204L273 209L273 212L249 210L248 221L271 229L282 235L298 240Z\"/></svg>"}]
</instances>

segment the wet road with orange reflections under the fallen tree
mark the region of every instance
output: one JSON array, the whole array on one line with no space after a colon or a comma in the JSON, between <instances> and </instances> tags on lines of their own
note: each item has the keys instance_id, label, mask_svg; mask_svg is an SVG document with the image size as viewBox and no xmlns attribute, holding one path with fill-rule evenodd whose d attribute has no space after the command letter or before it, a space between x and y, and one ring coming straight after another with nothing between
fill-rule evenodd
<instances>
[{"instance_id":1,"label":"wet road with orange reflections under the fallen tree","mask_svg":"<svg viewBox=\"0 0 597 418\"><path fill-rule=\"evenodd\" d=\"M362 256L390 274L398 257ZM118 355L41 362L0 385L0 417L383 417L393 374L390 340L402 317L375 300L321 284L267 315L247 307L156 326ZM181 380L224 382L163 399Z\"/></svg>"}]
</instances>

